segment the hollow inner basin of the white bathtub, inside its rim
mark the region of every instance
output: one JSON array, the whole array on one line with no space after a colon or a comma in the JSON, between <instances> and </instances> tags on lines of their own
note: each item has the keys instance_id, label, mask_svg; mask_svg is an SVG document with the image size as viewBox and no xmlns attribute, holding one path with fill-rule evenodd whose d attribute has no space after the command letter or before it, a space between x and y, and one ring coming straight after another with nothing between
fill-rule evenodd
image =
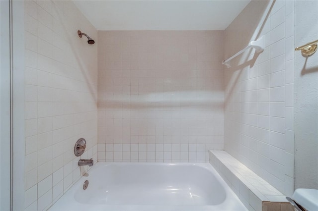
<instances>
[{"instance_id":1,"label":"hollow inner basin of the white bathtub, inside its rim","mask_svg":"<svg viewBox=\"0 0 318 211\"><path fill-rule=\"evenodd\" d=\"M75 200L104 205L197 205L225 201L224 187L211 172L192 164L98 163L77 187ZM190 172L189 172L190 169Z\"/></svg>"}]
</instances>

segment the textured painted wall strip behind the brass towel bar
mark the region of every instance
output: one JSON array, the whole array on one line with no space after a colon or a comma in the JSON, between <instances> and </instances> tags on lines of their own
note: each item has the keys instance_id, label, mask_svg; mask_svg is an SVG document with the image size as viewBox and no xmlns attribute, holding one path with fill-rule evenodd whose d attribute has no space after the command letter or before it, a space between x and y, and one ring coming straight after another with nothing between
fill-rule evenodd
<instances>
[{"instance_id":1,"label":"textured painted wall strip behind the brass towel bar","mask_svg":"<svg viewBox=\"0 0 318 211\"><path fill-rule=\"evenodd\" d=\"M295 1L295 46L318 39L318 2ZM295 53L295 187L318 189L318 53Z\"/></svg>"}]
</instances>

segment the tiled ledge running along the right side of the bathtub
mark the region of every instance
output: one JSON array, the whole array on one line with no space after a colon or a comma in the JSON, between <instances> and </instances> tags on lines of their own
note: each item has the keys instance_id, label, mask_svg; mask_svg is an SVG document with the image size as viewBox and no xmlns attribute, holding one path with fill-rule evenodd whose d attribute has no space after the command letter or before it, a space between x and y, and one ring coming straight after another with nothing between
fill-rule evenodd
<instances>
[{"instance_id":1,"label":"tiled ledge running along the right side of the bathtub","mask_svg":"<svg viewBox=\"0 0 318 211\"><path fill-rule=\"evenodd\" d=\"M249 211L293 211L284 194L224 150L210 150L209 161Z\"/></svg>"}]
</instances>

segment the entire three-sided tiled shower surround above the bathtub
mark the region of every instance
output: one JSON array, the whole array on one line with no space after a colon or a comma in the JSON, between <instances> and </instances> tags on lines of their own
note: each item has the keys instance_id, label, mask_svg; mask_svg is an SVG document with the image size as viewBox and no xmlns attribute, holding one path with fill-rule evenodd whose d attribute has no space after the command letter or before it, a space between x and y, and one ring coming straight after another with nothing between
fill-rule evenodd
<instances>
[{"instance_id":1,"label":"entire three-sided tiled shower surround above the bathtub","mask_svg":"<svg viewBox=\"0 0 318 211\"><path fill-rule=\"evenodd\" d=\"M225 150L293 192L294 1L251 1L225 31L97 32L69 0L24 8L26 210L46 210L87 170L73 154L81 137L94 161ZM222 65L262 35L264 52Z\"/></svg>"}]
</instances>

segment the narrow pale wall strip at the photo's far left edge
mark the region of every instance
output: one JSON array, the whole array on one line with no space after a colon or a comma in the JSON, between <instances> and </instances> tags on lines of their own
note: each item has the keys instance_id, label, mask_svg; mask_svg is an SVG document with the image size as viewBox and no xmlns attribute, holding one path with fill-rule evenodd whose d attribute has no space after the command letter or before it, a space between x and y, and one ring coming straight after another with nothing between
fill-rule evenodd
<instances>
[{"instance_id":1,"label":"narrow pale wall strip at the photo's far left edge","mask_svg":"<svg viewBox=\"0 0 318 211\"><path fill-rule=\"evenodd\" d=\"M0 1L0 210L10 209L9 1Z\"/></svg>"}]
</instances>

